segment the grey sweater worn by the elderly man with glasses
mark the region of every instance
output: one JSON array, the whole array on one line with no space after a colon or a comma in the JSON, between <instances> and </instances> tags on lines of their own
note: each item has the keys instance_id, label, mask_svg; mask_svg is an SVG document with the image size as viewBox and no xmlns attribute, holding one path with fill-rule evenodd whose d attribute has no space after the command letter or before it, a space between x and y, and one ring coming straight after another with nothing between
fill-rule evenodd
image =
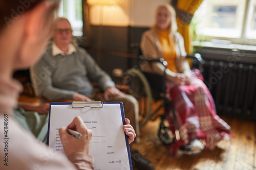
<instances>
[{"instance_id":1,"label":"grey sweater worn by the elderly man with glasses","mask_svg":"<svg viewBox=\"0 0 256 170\"><path fill-rule=\"evenodd\" d=\"M93 93L91 82L105 90L115 83L81 47L71 55L52 56L49 46L42 58L31 68L31 79L36 95L48 100L72 100L76 92L83 95Z\"/></svg>"}]
</instances>

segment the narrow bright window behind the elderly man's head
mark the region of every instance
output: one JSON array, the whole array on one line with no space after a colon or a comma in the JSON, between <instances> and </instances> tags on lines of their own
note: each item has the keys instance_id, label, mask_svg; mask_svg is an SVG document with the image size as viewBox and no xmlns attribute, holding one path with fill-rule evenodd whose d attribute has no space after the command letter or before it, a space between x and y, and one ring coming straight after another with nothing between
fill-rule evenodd
<instances>
[{"instance_id":1,"label":"narrow bright window behind the elderly man's head","mask_svg":"<svg viewBox=\"0 0 256 170\"><path fill-rule=\"evenodd\" d=\"M82 0L61 0L58 16L69 19L74 36L82 36Z\"/></svg>"}]
</instances>

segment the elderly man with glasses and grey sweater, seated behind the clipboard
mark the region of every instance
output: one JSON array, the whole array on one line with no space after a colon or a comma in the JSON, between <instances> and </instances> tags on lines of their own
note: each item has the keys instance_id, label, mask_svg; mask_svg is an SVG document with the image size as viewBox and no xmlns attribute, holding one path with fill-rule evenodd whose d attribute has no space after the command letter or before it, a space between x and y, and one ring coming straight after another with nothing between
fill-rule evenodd
<instances>
[{"instance_id":1,"label":"elderly man with glasses and grey sweater, seated behind the clipboard","mask_svg":"<svg viewBox=\"0 0 256 170\"><path fill-rule=\"evenodd\" d=\"M57 18L54 25L54 42L41 60L31 68L31 80L36 95L49 101L121 101L125 117L139 136L138 104L136 99L115 88L115 83L81 47L72 44L72 28L68 19ZM104 93L98 95L91 82L96 82ZM135 152L136 158L140 157ZM133 155L132 155L133 157ZM153 164L140 157L135 160L139 169L154 169Z\"/></svg>"}]
</instances>

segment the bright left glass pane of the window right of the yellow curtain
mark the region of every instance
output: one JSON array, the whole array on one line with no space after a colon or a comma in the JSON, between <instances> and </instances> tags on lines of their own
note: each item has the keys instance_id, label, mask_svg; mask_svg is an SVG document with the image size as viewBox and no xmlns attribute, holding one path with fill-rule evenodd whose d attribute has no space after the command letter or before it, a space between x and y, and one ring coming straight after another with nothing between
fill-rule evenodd
<instances>
[{"instance_id":1,"label":"bright left glass pane of the window right of the yellow curtain","mask_svg":"<svg viewBox=\"0 0 256 170\"><path fill-rule=\"evenodd\" d=\"M205 36L239 38L246 0L205 0L195 13L197 32Z\"/></svg>"}]
</instances>

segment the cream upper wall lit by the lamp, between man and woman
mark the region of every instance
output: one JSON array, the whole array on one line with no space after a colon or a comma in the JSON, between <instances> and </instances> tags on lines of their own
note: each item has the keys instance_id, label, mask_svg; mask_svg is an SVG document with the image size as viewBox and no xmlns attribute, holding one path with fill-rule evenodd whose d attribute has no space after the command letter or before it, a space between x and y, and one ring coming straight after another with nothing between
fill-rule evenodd
<instances>
[{"instance_id":1,"label":"cream upper wall lit by the lamp, between man and woman","mask_svg":"<svg viewBox=\"0 0 256 170\"><path fill-rule=\"evenodd\" d=\"M170 0L120 0L118 6L90 7L92 25L150 27L154 23L155 9Z\"/></svg>"}]
</instances>

